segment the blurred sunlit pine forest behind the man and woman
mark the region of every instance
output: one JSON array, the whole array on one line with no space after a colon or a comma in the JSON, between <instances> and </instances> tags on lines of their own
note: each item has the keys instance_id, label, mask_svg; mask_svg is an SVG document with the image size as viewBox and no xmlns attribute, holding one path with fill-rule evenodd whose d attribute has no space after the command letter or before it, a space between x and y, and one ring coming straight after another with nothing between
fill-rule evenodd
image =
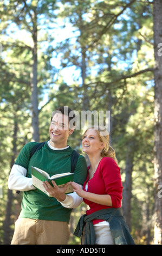
<instances>
[{"instance_id":1,"label":"blurred sunlit pine forest behind the man and woman","mask_svg":"<svg viewBox=\"0 0 162 256\"><path fill-rule=\"evenodd\" d=\"M59 106L110 111L127 224L135 243L161 244L162 1L1 0L0 11L0 244L21 210L10 169L23 145L49 139ZM68 144L83 154L81 138ZM70 244L85 211L72 211Z\"/></svg>"}]
</instances>

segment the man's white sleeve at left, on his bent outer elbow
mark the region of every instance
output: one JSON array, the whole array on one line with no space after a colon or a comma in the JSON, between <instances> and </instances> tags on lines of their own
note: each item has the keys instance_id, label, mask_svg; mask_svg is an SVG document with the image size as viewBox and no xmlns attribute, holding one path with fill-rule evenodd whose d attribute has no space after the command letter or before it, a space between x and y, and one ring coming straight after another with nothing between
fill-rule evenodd
<instances>
[{"instance_id":1,"label":"man's white sleeve at left, on his bent outer elbow","mask_svg":"<svg viewBox=\"0 0 162 256\"><path fill-rule=\"evenodd\" d=\"M18 164L14 164L8 179L9 189L20 191L35 190L36 188L32 184L32 179L26 177L26 175L27 169Z\"/></svg>"}]
</instances>

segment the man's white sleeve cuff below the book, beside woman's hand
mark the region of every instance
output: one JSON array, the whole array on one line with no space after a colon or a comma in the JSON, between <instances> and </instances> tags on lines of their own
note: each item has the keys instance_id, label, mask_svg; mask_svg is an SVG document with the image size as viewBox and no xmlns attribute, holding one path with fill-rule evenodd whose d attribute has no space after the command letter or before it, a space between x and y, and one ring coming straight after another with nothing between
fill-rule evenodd
<instances>
[{"instance_id":1,"label":"man's white sleeve cuff below the book, beside woman's hand","mask_svg":"<svg viewBox=\"0 0 162 256\"><path fill-rule=\"evenodd\" d=\"M80 185L81 186L81 185ZM81 186L83 188L83 186ZM83 202L83 198L78 196L76 192L66 194L66 199L60 202L65 208L77 208Z\"/></svg>"}]
</instances>

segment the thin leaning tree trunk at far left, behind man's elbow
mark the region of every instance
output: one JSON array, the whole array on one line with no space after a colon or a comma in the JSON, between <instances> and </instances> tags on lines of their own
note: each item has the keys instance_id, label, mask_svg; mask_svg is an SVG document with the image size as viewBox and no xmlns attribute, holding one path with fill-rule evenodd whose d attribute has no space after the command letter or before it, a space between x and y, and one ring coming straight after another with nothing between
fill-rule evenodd
<instances>
[{"instance_id":1,"label":"thin leaning tree trunk at far left, behind man's elbow","mask_svg":"<svg viewBox=\"0 0 162 256\"><path fill-rule=\"evenodd\" d=\"M14 135L13 135L13 149L12 149L12 157L11 157L11 163L10 163L10 169L14 165L15 157L16 157L16 139L17 139L17 130L18 125L15 117L15 124L14 124ZM12 208L12 199L13 194L12 190L8 190L8 199L7 199L7 207L5 211L5 220L3 222L3 230L4 230L4 236L3 236L3 243L4 245L10 245L10 220L11 220L11 208Z\"/></svg>"}]
</instances>

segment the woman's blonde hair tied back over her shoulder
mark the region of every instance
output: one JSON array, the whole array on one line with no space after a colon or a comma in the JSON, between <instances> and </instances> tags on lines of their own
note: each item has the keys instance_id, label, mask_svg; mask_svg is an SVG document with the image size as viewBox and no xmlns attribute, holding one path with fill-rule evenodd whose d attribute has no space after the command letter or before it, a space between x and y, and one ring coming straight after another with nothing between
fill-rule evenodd
<instances>
[{"instance_id":1,"label":"woman's blonde hair tied back over her shoulder","mask_svg":"<svg viewBox=\"0 0 162 256\"><path fill-rule=\"evenodd\" d=\"M105 128L101 127L101 126L91 126L91 127L88 127L87 130L90 130L90 129L94 129L98 135L99 135L99 138L100 138L100 141L104 143L105 147L102 149L101 151L101 156L108 156L108 157L112 157L112 159L115 160L115 162L117 163L118 160L116 159L116 156L115 156L115 150L113 149L113 147L109 144L109 134L108 132L105 130ZM86 130L86 131L87 131ZM86 131L83 133L83 137L86 133ZM82 137L82 139L83 139Z\"/></svg>"}]
</instances>

